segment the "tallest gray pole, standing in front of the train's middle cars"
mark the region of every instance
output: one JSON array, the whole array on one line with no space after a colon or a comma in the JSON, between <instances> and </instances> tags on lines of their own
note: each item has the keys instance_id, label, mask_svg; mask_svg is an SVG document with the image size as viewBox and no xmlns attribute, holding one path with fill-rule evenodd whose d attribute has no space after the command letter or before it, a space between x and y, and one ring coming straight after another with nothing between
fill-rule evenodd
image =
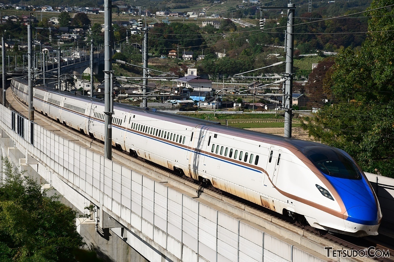
<instances>
[{"instance_id":1,"label":"tallest gray pole, standing in front of the train's middle cars","mask_svg":"<svg viewBox=\"0 0 394 262\"><path fill-rule=\"evenodd\" d=\"M104 0L104 157L112 159L112 114L110 81L112 71L112 0Z\"/></svg>"}]
</instances>

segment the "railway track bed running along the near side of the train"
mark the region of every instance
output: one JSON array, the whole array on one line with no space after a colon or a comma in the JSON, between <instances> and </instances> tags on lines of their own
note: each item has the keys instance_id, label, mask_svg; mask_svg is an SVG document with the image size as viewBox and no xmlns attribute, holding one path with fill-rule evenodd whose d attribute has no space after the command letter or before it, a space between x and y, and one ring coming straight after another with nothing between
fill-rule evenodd
<instances>
[{"instance_id":1,"label":"railway track bed running along the near side of the train","mask_svg":"<svg viewBox=\"0 0 394 262\"><path fill-rule=\"evenodd\" d=\"M8 91L10 92L11 90L8 90ZM7 96L9 96L9 95L7 94ZM11 100L11 103L9 104L10 107L15 111L20 111L21 114L24 114L26 116L26 114L27 114L26 107L27 106L24 105L23 103L21 103L15 97L13 97L13 94L12 94L12 98L13 99ZM17 104L15 104L15 103L17 103ZM24 108L24 111L20 110L19 109L20 107ZM60 131L65 133L66 135L69 135L71 137L78 139L80 142L82 142L83 144L85 144L87 146L94 144L98 148L102 148L102 149L104 148L104 142L102 142L100 140L96 140L94 138L91 138L88 135L82 134L82 133L72 129L71 127L68 127L66 125L63 125L59 122L52 120L49 117L39 114L39 119L42 120L43 122L45 122L46 124L56 127L57 129L59 129ZM113 150L114 155L117 156L116 158L114 157L115 159L123 159L123 158L132 159L132 162L135 162L136 164L139 164L141 166L147 166L147 164L148 164L149 166L151 166L152 170L156 170L156 171L160 170L162 173L165 173L165 176L170 177L171 179L174 179L177 181L179 181L180 179L183 181L187 181L188 185L193 187L193 189L197 191L198 196L201 194L206 194L209 191L210 196L214 196L217 199L223 199L223 197L225 197L227 199L230 199L231 201L234 201L235 203L238 203L237 206L247 206L247 207L255 210L255 212L253 212L253 215L259 216L262 219L265 219L266 216L272 216L272 217L276 218L276 220L282 221L282 223L277 223L277 225L283 226L283 224L285 224L285 228L290 231L298 233L299 230L301 229L302 231L307 231L307 232L310 232L311 234L318 236L321 239L321 241L320 240L318 241L318 244L327 245L327 241L328 241L329 243L332 243L333 245L339 245L339 246L345 247L346 249L349 249L351 251L354 250L357 252L361 252L361 254L362 254L363 250L367 250L370 247L373 247L375 251L376 250L380 250L380 251L388 250L390 258L378 257L378 258L374 258L374 259L376 261L381 261L381 262L394 262L394 250L392 249L394 239L389 236L386 236L384 234L383 235L379 234L379 236L377 236L377 237L355 238L355 237L346 236L346 235L342 235L342 234L331 234L327 231L317 230L313 227L310 227L309 225L307 225L305 223L302 223L300 221L296 221L296 220L290 218L289 216L281 215L281 214L276 213L272 210L269 210L268 208L264 208L262 206L255 204L255 203L241 199L240 197L237 197L237 196L234 196L234 195L229 194L227 192L223 192L221 190L218 190L217 188L214 188L213 186L205 187L206 185L203 185L201 182L195 181L194 179L191 179L190 177L186 177L186 175L180 175L179 173L176 173L173 170L169 170L168 168L164 168L163 166L159 166L157 164L154 164L154 163L147 161L145 159L142 159L140 157L131 156L129 153L123 151L122 149L115 148L115 147L113 147L113 149L114 149ZM230 201L227 201L227 202L230 202ZM245 211L245 212L247 212L247 211ZM271 221L271 222L274 223L273 221ZM323 240L325 240L325 241L323 241ZM360 254L360 253L358 253L358 254ZM355 258L355 259L359 260L359 261L367 261L362 258L361 259Z\"/></svg>"}]
</instances>

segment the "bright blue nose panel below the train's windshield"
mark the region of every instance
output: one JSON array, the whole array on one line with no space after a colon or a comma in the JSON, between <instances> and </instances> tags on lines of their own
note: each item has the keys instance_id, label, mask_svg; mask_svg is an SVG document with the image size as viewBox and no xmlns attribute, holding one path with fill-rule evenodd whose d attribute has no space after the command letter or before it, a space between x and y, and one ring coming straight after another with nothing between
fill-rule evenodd
<instances>
[{"instance_id":1,"label":"bright blue nose panel below the train's windshield","mask_svg":"<svg viewBox=\"0 0 394 262\"><path fill-rule=\"evenodd\" d=\"M346 220L362 225L377 225L379 223L377 200L364 176L361 179L326 177L345 205L348 216Z\"/></svg>"}]
</instances>

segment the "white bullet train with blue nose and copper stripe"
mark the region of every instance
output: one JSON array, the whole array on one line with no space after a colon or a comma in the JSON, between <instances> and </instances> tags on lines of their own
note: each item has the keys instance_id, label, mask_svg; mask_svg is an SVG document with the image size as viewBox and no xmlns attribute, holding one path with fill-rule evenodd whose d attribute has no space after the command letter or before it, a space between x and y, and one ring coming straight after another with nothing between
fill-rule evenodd
<instances>
[{"instance_id":1,"label":"white bullet train with blue nose and copper stripe","mask_svg":"<svg viewBox=\"0 0 394 262\"><path fill-rule=\"evenodd\" d=\"M27 103L26 81L13 79L11 88ZM36 111L104 140L104 101L33 90ZM382 216L374 190L340 149L119 103L112 144L278 213L305 217L312 227L377 234Z\"/></svg>"}]
</instances>

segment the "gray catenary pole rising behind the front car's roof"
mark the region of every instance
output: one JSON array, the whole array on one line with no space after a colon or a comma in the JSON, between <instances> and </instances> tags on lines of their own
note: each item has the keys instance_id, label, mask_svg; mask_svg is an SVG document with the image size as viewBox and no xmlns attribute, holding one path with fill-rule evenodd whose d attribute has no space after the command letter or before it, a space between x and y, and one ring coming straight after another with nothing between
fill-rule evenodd
<instances>
[{"instance_id":1,"label":"gray catenary pole rising behind the front car's roof","mask_svg":"<svg viewBox=\"0 0 394 262\"><path fill-rule=\"evenodd\" d=\"M284 111L284 137L292 137L292 96L293 96L293 52L294 52L294 7L295 4L287 4L287 41L286 41L286 90Z\"/></svg>"}]
</instances>

